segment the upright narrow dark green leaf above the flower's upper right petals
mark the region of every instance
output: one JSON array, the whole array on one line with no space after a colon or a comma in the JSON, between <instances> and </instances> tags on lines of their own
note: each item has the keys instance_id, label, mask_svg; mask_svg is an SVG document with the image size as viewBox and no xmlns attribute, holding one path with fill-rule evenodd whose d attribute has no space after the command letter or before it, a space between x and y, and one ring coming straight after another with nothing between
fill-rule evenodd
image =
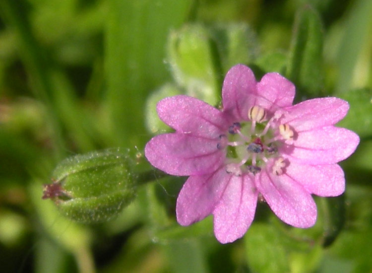
<instances>
[{"instance_id":1,"label":"upright narrow dark green leaf above the flower's upper right petals","mask_svg":"<svg viewBox=\"0 0 372 273\"><path fill-rule=\"evenodd\" d=\"M305 5L297 12L287 77L298 96L316 97L323 88L323 26L316 10Z\"/></svg>"}]
</instances>

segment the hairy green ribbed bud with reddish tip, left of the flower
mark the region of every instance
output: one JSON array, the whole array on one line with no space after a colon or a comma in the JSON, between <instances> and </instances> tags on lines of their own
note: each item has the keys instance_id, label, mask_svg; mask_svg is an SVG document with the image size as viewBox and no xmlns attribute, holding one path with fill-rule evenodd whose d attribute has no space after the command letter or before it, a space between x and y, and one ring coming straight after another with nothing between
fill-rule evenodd
<instances>
[{"instance_id":1,"label":"hairy green ribbed bud with reddish tip, left of the flower","mask_svg":"<svg viewBox=\"0 0 372 273\"><path fill-rule=\"evenodd\" d=\"M52 199L62 214L84 223L105 222L135 196L132 159L121 149L78 154L63 160L45 185L43 199Z\"/></svg>"}]
</instances>

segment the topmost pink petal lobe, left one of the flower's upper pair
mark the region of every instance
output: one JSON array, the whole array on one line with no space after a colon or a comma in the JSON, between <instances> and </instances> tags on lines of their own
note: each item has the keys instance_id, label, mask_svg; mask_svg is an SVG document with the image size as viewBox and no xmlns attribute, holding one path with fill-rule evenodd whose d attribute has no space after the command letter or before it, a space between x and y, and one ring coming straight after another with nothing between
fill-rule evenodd
<instances>
[{"instance_id":1,"label":"topmost pink petal lobe, left one of the flower's upper pair","mask_svg":"<svg viewBox=\"0 0 372 273\"><path fill-rule=\"evenodd\" d=\"M252 94L256 94L256 79L252 70L244 65L232 67L222 87L224 113L232 115L234 121L248 120L248 110L253 106Z\"/></svg>"}]
</instances>

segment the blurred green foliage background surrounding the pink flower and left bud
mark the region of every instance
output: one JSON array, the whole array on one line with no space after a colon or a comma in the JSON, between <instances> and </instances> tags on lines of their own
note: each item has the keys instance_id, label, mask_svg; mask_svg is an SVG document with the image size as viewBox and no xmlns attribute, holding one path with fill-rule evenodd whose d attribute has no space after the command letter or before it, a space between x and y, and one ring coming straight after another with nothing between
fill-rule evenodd
<instances>
[{"instance_id":1,"label":"blurred green foliage background surrounding the pink flower and left bud","mask_svg":"<svg viewBox=\"0 0 372 273\"><path fill-rule=\"evenodd\" d=\"M0 271L64 273L372 272L371 0L0 0ZM168 130L156 102L210 104L235 64L277 71L296 100L338 96L361 136L342 162L346 193L315 198L310 229L260 204L244 239L221 245L212 218L175 220L186 178L157 178L112 221L79 224L42 200L67 156L143 147Z\"/></svg>"}]
</instances>

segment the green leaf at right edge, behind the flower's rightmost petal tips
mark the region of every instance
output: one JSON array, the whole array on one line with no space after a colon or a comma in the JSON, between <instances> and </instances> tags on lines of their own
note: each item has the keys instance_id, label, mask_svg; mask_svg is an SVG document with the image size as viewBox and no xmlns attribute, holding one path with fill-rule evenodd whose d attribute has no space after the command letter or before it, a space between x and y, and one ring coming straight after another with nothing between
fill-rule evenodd
<instances>
[{"instance_id":1,"label":"green leaf at right edge, behind the flower's rightmost petal tips","mask_svg":"<svg viewBox=\"0 0 372 273\"><path fill-rule=\"evenodd\" d=\"M372 90L357 89L338 93L338 97L350 104L346 117L337 126L345 127L357 133L361 138L372 136Z\"/></svg>"}]
</instances>

